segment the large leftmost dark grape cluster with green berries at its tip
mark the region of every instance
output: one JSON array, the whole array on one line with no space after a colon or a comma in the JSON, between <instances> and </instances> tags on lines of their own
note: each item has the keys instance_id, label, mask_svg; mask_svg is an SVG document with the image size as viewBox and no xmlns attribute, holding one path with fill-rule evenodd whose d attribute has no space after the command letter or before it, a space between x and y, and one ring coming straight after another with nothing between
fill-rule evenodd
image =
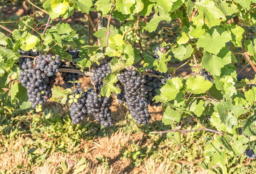
<instances>
[{"instance_id":1,"label":"large leftmost dark grape cluster with green berries at its tip","mask_svg":"<svg viewBox=\"0 0 256 174\"><path fill-rule=\"evenodd\" d=\"M19 51L21 56L35 57L35 64L30 57L20 57L20 75L18 80L27 89L29 101L36 112L42 111L42 104L52 96L51 88L55 83L60 60L51 54L39 56L32 51Z\"/></svg>"}]
</instances>

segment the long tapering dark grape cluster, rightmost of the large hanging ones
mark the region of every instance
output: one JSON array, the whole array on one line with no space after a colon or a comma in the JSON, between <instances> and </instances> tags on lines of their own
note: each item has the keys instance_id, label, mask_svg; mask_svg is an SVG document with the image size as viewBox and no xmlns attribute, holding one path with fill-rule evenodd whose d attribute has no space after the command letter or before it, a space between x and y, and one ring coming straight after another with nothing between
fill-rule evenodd
<instances>
[{"instance_id":1,"label":"long tapering dark grape cluster, rightmost of the large hanging ones","mask_svg":"<svg viewBox=\"0 0 256 174\"><path fill-rule=\"evenodd\" d=\"M141 75L142 74L137 73L136 70L122 72L117 79L121 84L124 84L123 87L120 87L120 89L123 88L123 93L120 93L117 98L125 101L132 118L134 118L138 124L148 124L151 116L148 113L147 80Z\"/></svg>"}]
</instances>

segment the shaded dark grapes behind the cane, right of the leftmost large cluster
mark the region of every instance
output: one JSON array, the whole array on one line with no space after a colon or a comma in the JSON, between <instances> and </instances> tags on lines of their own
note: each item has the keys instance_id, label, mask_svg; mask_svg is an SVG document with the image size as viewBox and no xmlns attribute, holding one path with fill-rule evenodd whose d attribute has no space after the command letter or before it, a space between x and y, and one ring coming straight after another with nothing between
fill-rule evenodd
<instances>
[{"instance_id":1,"label":"shaded dark grapes behind the cane, right of the leftmost large cluster","mask_svg":"<svg viewBox=\"0 0 256 174\"><path fill-rule=\"evenodd\" d=\"M68 50L67 52L72 55L72 59L77 59L79 58L79 50L76 51L75 48L72 50ZM76 68L76 64L73 62L70 62L70 65ZM61 63L62 68L71 68L69 65L66 65L64 62ZM63 78L65 84L67 84L67 88L73 87L74 84L70 83L69 81L77 81L81 77L78 73L67 73L67 72L62 72L61 77ZM75 83L76 87L81 87L81 82Z\"/></svg>"}]
</instances>

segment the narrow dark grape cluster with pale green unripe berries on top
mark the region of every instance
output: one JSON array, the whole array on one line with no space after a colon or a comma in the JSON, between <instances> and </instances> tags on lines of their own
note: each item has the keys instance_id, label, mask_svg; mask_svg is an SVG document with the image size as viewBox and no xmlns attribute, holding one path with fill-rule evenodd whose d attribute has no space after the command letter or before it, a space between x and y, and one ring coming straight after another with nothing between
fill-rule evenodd
<instances>
[{"instance_id":1,"label":"narrow dark grape cluster with pale green unripe berries on top","mask_svg":"<svg viewBox=\"0 0 256 174\"><path fill-rule=\"evenodd\" d=\"M70 116L74 125L81 123L87 117L86 96L87 92L82 91L81 88L73 90L73 95L69 96Z\"/></svg>"}]
</instances>

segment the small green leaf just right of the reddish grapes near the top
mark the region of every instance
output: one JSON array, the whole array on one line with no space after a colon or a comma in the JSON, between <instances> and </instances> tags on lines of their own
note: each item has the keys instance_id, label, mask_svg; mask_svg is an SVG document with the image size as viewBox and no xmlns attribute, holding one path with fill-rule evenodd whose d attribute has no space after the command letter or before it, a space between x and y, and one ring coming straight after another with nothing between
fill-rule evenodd
<instances>
[{"instance_id":1,"label":"small green leaf just right of the reddish grapes near the top","mask_svg":"<svg viewBox=\"0 0 256 174\"><path fill-rule=\"evenodd\" d=\"M178 45L177 48L172 48L172 53L176 59L183 61L191 56L194 48L190 44L188 45Z\"/></svg>"}]
</instances>

